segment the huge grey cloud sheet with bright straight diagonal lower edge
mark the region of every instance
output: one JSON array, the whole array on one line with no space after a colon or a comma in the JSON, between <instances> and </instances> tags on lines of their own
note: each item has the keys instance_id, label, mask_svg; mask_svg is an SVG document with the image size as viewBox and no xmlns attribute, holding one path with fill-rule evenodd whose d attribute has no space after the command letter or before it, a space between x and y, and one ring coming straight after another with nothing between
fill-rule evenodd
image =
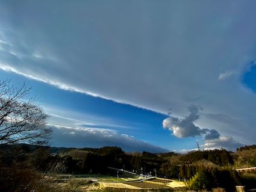
<instances>
[{"instance_id":1,"label":"huge grey cloud sheet with bright straight diagonal lower edge","mask_svg":"<svg viewBox=\"0 0 256 192\"><path fill-rule=\"evenodd\" d=\"M0 67L255 141L252 1L1 1ZM197 128L195 128L196 130ZM199 130L200 131L200 130Z\"/></svg>"}]
</instances>

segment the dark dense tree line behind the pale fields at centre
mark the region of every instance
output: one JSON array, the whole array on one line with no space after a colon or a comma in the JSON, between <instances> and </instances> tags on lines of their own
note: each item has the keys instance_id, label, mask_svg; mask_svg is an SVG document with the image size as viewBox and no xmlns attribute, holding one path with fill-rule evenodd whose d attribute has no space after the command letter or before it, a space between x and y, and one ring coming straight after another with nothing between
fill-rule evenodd
<instances>
[{"instance_id":1,"label":"dark dense tree line behind the pale fields at centre","mask_svg":"<svg viewBox=\"0 0 256 192\"><path fill-rule=\"evenodd\" d=\"M66 166L65 173L93 173L106 174L108 167L130 170L131 172L149 173L159 170L163 162L167 162L158 155L149 152L125 153L120 147L102 147L100 149L70 150L65 155L49 155L43 159L40 170L46 169L48 164L63 161Z\"/></svg>"}]
</instances>

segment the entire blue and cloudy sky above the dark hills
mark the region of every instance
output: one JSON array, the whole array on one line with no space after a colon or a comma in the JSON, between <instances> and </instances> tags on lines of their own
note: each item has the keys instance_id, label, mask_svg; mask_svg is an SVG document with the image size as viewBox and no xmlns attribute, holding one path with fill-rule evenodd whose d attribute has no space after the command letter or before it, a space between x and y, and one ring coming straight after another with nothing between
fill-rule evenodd
<instances>
[{"instance_id":1,"label":"entire blue and cloudy sky above the dark hills","mask_svg":"<svg viewBox=\"0 0 256 192\"><path fill-rule=\"evenodd\" d=\"M255 144L256 2L0 1L0 80L50 115L52 146Z\"/></svg>"}]
</instances>

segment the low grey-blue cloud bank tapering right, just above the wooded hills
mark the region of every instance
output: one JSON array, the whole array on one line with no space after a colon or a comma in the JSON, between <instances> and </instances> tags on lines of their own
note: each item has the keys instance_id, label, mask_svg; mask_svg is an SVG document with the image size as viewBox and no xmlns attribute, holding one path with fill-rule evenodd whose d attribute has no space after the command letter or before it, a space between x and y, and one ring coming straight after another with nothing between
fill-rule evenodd
<instances>
[{"instance_id":1,"label":"low grey-blue cloud bank tapering right, just above the wooded hills","mask_svg":"<svg viewBox=\"0 0 256 192\"><path fill-rule=\"evenodd\" d=\"M119 146L126 152L142 152L146 150L152 153L169 152L162 147L140 141L133 136L119 134L111 129L101 128L70 128L51 125L53 129L52 145L59 147L103 147Z\"/></svg>"}]
</instances>

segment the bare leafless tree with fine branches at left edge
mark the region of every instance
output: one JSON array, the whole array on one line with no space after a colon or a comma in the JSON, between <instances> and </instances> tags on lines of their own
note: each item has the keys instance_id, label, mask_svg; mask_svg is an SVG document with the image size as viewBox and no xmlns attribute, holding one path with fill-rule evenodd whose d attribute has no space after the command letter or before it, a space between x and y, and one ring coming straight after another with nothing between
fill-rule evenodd
<instances>
[{"instance_id":1,"label":"bare leafless tree with fine branches at left edge","mask_svg":"<svg viewBox=\"0 0 256 192\"><path fill-rule=\"evenodd\" d=\"M48 115L28 98L30 87L0 81L0 144L46 144L52 130L46 125Z\"/></svg>"}]
</instances>

